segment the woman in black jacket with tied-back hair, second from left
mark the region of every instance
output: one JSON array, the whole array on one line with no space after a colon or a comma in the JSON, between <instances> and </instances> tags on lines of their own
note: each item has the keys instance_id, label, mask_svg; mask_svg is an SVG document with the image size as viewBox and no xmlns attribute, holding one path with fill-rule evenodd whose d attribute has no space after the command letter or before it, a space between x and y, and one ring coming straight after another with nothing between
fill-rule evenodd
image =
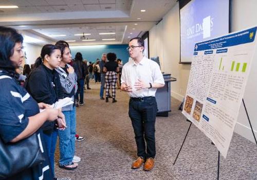
<instances>
[{"instance_id":1,"label":"woman in black jacket with tied-back hair, second from left","mask_svg":"<svg viewBox=\"0 0 257 180\"><path fill-rule=\"evenodd\" d=\"M40 60L41 58L41 60ZM38 67L34 67L30 75L27 77L25 87L36 102L44 102L46 104L54 104L59 99L63 99L64 92L60 83L60 78L55 68L60 66L61 51L52 44L46 44L41 50L41 56L38 58ZM43 136L47 153L50 159L52 174L54 175L54 152L56 150L56 142L58 130L66 128L65 117L59 112L62 119L57 122L45 122L43 124ZM57 123L57 125L56 125Z\"/></svg>"}]
</instances>

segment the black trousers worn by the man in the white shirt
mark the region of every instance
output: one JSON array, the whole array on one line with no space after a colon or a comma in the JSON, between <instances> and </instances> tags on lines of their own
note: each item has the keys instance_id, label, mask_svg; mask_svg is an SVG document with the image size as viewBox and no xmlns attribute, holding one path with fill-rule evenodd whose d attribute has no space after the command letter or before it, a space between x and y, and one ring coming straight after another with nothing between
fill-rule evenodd
<instances>
[{"instance_id":1,"label":"black trousers worn by the man in the white shirt","mask_svg":"<svg viewBox=\"0 0 257 180\"><path fill-rule=\"evenodd\" d=\"M155 157L156 113L157 103L155 97L130 99L128 115L131 118L135 133L138 156L144 158Z\"/></svg>"}]
</instances>

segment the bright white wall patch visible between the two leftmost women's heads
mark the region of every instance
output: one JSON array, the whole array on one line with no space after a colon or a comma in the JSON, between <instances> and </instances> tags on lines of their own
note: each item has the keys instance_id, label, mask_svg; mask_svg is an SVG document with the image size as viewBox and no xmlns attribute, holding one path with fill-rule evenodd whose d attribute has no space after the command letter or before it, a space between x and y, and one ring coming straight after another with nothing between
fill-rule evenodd
<instances>
[{"instance_id":1,"label":"bright white wall patch visible between the two leftmost women's heads","mask_svg":"<svg viewBox=\"0 0 257 180\"><path fill-rule=\"evenodd\" d=\"M40 56L41 49L43 46L41 45L34 45L34 44L29 44L29 43L23 43L24 46L24 51L26 52L26 62L25 64L33 64Z\"/></svg>"}]
</instances>

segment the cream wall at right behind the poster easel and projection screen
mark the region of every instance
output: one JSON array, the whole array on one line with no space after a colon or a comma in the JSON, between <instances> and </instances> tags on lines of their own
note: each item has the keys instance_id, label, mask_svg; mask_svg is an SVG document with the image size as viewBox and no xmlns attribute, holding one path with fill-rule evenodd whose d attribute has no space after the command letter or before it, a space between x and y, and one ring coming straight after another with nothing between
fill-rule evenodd
<instances>
[{"instance_id":1,"label":"cream wall at right behind the poster easel and projection screen","mask_svg":"<svg viewBox=\"0 0 257 180\"><path fill-rule=\"evenodd\" d=\"M256 0L231 0L231 31L242 30L257 25ZM179 64L180 38L179 38L179 6L174 6L162 21L149 31L150 57L159 56L161 70L177 78L172 82L172 97L182 100L185 96L190 73L190 64ZM257 50L256 50L257 54ZM253 59L252 69L257 67L257 55ZM257 136L257 76L252 70L247 83L244 100L247 106L253 129ZM254 111L255 110L255 111ZM235 132L253 141L252 133L244 109L241 106Z\"/></svg>"}]
</instances>

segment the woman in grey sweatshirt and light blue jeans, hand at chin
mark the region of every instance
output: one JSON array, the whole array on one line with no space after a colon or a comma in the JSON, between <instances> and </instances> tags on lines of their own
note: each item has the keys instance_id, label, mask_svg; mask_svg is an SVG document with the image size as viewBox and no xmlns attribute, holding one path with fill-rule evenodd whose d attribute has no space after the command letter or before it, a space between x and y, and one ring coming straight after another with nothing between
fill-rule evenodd
<instances>
[{"instance_id":1,"label":"woman in grey sweatshirt and light blue jeans, hand at chin","mask_svg":"<svg viewBox=\"0 0 257 180\"><path fill-rule=\"evenodd\" d=\"M64 97L69 97L74 101L74 95L78 90L77 75L74 68L68 63L71 62L71 53L69 45L65 41L58 41L56 46L61 50L62 61L60 67L56 68L61 85L64 91ZM78 163L81 159L75 156L75 134L76 134L76 107L70 104L62 108L65 115L67 128L64 131L58 131L60 160L59 167L67 170L74 170L77 166L72 165Z\"/></svg>"}]
</instances>

